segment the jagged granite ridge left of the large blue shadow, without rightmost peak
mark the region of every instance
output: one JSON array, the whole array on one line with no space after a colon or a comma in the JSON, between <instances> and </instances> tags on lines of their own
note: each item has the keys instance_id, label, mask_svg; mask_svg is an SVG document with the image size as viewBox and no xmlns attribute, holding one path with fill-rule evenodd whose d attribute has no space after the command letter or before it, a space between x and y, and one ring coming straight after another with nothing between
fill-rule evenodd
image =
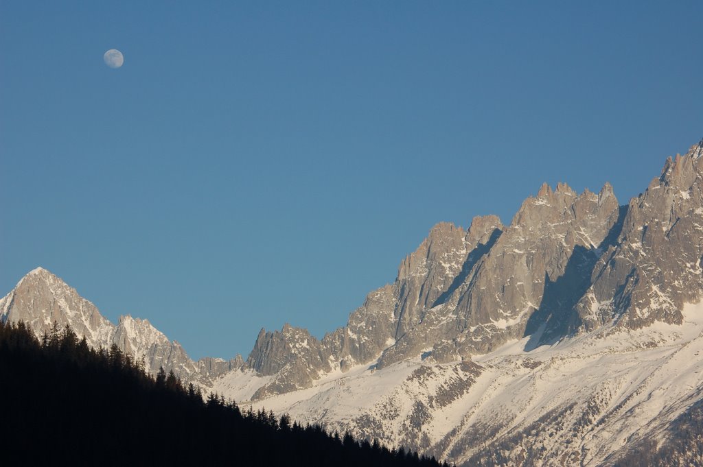
<instances>
[{"instance_id":1,"label":"jagged granite ridge left of the large blue shadow, without rightmost peak","mask_svg":"<svg viewBox=\"0 0 703 467\"><path fill-rule=\"evenodd\" d=\"M254 397L309 387L337 367L378 359L382 369L424 352L449 362L521 337L545 288L565 276L569 261L580 264L587 253L593 266L620 212L610 185L581 195L564 184L554 191L543 185L507 228L496 216L474 218L467 231L434 226L401 262L394 284L369 294L347 327L322 341L290 326L262 330L247 363L278 376ZM577 270L573 280L583 288L591 269ZM546 322L550 312L543 314Z\"/></svg>"}]
</instances>

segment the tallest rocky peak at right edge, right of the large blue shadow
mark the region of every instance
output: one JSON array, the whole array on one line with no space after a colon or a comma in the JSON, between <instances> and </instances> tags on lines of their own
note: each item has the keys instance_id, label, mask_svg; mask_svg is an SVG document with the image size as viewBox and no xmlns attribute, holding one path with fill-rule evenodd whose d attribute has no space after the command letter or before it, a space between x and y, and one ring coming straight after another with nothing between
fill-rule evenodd
<instances>
[{"instance_id":1,"label":"tallest rocky peak at right edge, right of the large blue shadow","mask_svg":"<svg viewBox=\"0 0 703 467\"><path fill-rule=\"evenodd\" d=\"M617 242L593 269L576 311L587 328L608 320L632 329L681 323L683 303L703 290L703 140L666 160L662 175L630 201Z\"/></svg>"}]
</instances>

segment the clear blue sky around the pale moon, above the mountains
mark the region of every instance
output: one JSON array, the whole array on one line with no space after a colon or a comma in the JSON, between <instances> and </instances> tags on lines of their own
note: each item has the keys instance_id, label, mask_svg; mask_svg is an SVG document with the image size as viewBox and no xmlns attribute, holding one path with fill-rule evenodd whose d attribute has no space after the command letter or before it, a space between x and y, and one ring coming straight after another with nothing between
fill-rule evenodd
<instances>
[{"instance_id":1,"label":"clear blue sky around the pale moon, above the mountains","mask_svg":"<svg viewBox=\"0 0 703 467\"><path fill-rule=\"evenodd\" d=\"M703 2L574 3L2 1L0 294L42 265L246 357L344 324L434 223L543 181L627 202L703 137Z\"/></svg>"}]
</instances>

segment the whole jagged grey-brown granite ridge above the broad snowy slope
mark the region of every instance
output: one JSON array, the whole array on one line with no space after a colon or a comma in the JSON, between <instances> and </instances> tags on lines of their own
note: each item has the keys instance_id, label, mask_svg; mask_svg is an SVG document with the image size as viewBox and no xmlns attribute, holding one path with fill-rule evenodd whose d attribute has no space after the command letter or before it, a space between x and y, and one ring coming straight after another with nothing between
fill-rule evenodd
<instances>
[{"instance_id":1,"label":"whole jagged grey-brown granite ridge above the broad snowy slope","mask_svg":"<svg viewBox=\"0 0 703 467\"><path fill-rule=\"evenodd\" d=\"M435 225L346 327L321 341L302 329L262 331L247 364L276 377L255 397L357 364L469 360L515 338L538 346L612 320L681 322L683 303L703 291L702 154L703 142L669 158L623 206L609 183L581 194L545 184L508 226L496 216L468 230Z\"/></svg>"}]
</instances>

